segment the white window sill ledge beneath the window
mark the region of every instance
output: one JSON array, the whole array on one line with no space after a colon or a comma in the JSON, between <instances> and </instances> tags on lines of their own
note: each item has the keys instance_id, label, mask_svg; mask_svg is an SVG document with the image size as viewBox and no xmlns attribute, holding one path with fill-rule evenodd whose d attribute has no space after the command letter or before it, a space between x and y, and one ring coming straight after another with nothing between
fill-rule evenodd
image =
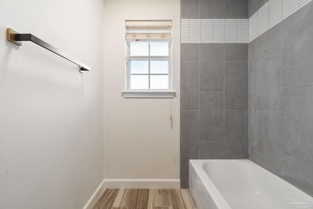
<instances>
[{"instance_id":1,"label":"white window sill ledge beneath the window","mask_svg":"<svg viewBox=\"0 0 313 209\"><path fill-rule=\"evenodd\" d=\"M123 91L124 98L173 98L175 91Z\"/></svg>"}]
</instances>

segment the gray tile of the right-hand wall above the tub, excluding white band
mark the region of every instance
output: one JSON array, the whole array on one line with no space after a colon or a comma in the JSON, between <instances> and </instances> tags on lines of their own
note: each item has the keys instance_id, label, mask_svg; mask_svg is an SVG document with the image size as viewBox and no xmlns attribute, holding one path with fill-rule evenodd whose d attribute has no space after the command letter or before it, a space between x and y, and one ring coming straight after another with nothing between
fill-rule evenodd
<instances>
[{"instance_id":1,"label":"gray tile of the right-hand wall above the tub, excluding white band","mask_svg":"<svg viewBox=\"0 0 313 209\"><path fill-rule=\"evenodd\" d=\"M249 16L263 0L249 0ZM313 2L248 44L249 158L313 195Z\"/></svg>"}]
</instances>

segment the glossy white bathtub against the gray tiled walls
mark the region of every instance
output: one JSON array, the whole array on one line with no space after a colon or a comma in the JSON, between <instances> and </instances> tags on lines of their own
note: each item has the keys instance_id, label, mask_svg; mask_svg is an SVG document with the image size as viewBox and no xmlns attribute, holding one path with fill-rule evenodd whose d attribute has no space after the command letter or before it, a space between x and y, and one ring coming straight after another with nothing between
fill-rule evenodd
<instances>
[{"instance_id":1,"label":"glossy white bathtub against the gray tiled walls","mask_svg":"<svg viewBox=\"0 0 313 209\"><path fill-rule=\"evenodd\" d=\"M249 160L190 160L198 209L313 209L313 197Z\"/></svg>"}]
</instances>

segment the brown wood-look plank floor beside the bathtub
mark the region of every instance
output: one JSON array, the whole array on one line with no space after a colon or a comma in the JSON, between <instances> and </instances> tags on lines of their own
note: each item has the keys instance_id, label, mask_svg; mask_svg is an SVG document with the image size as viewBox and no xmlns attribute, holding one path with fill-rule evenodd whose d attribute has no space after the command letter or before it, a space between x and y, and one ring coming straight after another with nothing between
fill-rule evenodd
<instances>
[{"instance_id":1,"label":"brown wood-look plank floor beside the bathtub","mask_svg":"<svg viewBox=\"0 0 313 209\"><path fill-rule=\"evenodd\" d=\"M93 209L197 209L189 189L106 189Z\"/></svg>"}]
</instances>

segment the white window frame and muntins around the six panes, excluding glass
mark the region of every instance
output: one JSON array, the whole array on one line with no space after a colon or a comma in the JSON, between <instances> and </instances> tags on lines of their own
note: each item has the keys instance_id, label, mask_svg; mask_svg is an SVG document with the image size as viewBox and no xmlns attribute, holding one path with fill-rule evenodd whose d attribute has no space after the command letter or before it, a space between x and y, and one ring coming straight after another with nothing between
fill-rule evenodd
<instances>
[{"instance_id":1,"label":"white window frame and muntins around the six panes, excluding glass","mask_svg":"<svg viewBox=\"0 0 313 209\"><path fill-rule=\"evenodd\" d=\"M149 55L148 56L131 56L131 43L149 43ZM168 43L168 56L151 56L150 55L150 44L151 43L156 43L156 42L165 42ZM171 91L172 89L172 40L144 40L144 41L135 41L135 40L127 40L126 41L127 45L127 57L126 57L126 91L134 91L134 92L166 92L166 91ZM131 73L131 60L148 60L149 61L149 69L148 69L148 74L147 73ZM154 60L165 60L168 61L168 73L151 73L150 69L150 61ZM148 87L149 89L131 89L131 75L148 75ZM150 78L151 75L168 75L168 88L167 89L151 89L151 82Z\"/></svg>"}]
</instances>

